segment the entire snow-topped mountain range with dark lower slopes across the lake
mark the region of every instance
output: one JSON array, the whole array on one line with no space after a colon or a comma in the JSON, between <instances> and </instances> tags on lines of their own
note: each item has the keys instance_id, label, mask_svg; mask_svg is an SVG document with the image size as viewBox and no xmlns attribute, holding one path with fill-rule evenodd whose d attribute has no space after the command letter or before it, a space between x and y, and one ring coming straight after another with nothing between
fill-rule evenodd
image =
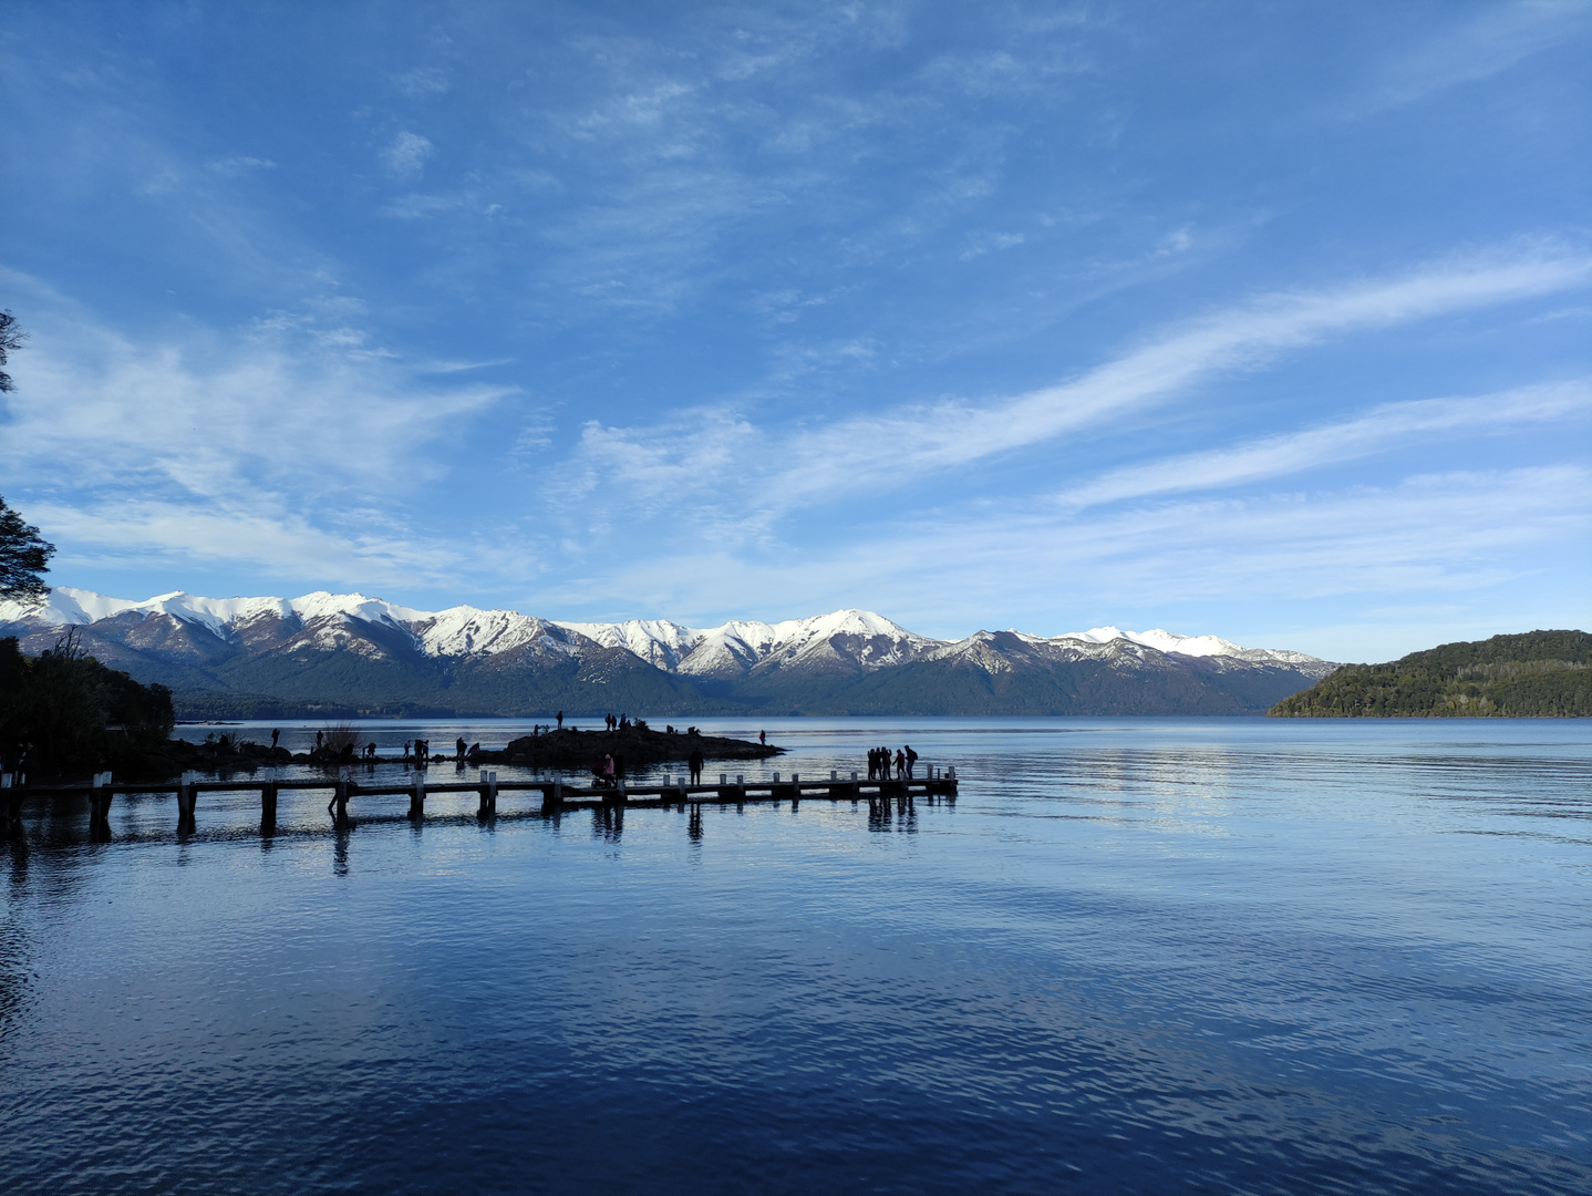
<instances>
[{"instance_id":1,"label":"entire snow-topped mountain range with dark lower slopes across the lake","mask_svg":"<svg viewBox=\"0 0 1592 1196\"><path fill-rule=\"evenodd\" d=\"M511 610L423 612L365 594L142 602L62 586L0 604L0 634L40 651L62 629L185 717L380 713L1259 713L1333 664L1215 635L917 635L864 610L689 627L562 623ZM267 713L269 712L269 713Z\"/></svg>"}]
</instances>

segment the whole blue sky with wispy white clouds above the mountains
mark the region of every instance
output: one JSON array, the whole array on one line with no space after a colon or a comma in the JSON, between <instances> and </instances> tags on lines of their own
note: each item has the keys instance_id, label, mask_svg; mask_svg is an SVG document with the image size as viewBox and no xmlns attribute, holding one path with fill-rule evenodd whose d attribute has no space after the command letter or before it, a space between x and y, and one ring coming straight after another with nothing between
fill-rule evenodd
<instances>
[{"instance_id":1,"label":"whole blue sky with wispy white clouds above the mountains","mask_svg":"<svg viewBox=\"0 0 1592 1196\"><path fill-rule=\"evenodd\" d=\"M1592 623L1592 5L6 10L57 584Z\"/></svg>"}]
</instances>

